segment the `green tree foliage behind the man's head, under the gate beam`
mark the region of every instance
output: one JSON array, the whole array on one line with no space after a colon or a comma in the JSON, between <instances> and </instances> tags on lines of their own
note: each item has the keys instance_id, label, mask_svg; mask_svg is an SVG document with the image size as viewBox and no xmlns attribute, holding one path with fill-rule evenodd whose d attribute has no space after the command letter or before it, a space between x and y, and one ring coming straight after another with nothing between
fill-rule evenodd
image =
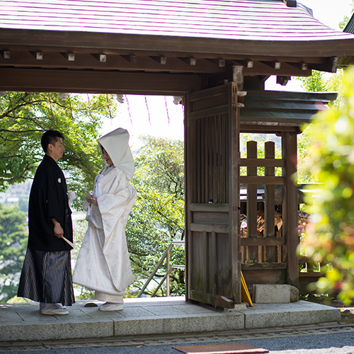
<instances>
[{"instance_id":1,"label":"green tree foliage behind the man's head, under the gate beam","mask_svg":"<svg viewBox=\"0 0 354 354\"><path fill-rule=\"evenodd\" d=\"M62 97L62 96L61 96ZM112 118L117 102L111 95L8 92L0 97L0 191L33 178L44 152L42 133L61 131L66 151L59 166L70 173L68 189L84 197L101 166L96 139L103 118ZM74 202L81 205L82 199Z\"/></svg>"}]
</instances>

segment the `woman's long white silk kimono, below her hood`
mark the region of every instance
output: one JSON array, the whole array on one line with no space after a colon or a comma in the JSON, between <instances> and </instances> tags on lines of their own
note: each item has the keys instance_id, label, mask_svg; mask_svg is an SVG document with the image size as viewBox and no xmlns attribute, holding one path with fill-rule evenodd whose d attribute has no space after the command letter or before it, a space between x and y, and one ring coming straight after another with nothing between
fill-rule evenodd
<instances>
[{"instance_id":1,"label":"woman's long white silk kimono, below her hood","mask_svg":"<svg viewBox=\"0 0 354 354\"><path fill-rule=\"evenodd\" d=\"M98 206L85 202L89 205L89 228L76 261L73 282L96 290L96 299L114 301L115 297L125 295L126 287L133 282L125 224L136 195L125 171L107 166L96 176L93 196Z\"/></svg>"}]
</instances>

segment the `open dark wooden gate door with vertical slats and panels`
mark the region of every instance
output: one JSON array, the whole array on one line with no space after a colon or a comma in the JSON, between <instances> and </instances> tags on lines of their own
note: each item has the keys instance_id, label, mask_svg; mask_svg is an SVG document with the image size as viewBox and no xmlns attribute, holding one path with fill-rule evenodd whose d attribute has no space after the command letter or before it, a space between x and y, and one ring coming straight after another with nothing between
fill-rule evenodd
<instances>
[{"instance_id":1,"label":"open dark wooden gate door with vertical slats and panels","mask_svg":"<svg viewBox=\"0 0 354 354\"><path fill-rule=\"evenodd\" d=\"M232 82L185 102L186 297L228 308L241 302L237 97Z\"/></svg>"}]
</instances>

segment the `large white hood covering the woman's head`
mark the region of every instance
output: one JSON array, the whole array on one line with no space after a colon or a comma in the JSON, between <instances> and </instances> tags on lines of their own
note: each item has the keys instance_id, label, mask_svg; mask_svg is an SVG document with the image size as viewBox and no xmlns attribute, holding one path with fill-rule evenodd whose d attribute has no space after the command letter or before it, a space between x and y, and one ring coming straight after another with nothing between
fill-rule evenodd
<instances>
[{"instance_id":1,"label":"large white hood covering the woman's head","mask_svg":"<svg viewBox=\"0 0 354 354\"><path fill-rule=\"evenodd\" d=\"M134 159L129 147L129 133L118 128L97 140L98 145L105 148L115 167L119 167L131 180L135 172Z\"/></svg>"}]
</instances>

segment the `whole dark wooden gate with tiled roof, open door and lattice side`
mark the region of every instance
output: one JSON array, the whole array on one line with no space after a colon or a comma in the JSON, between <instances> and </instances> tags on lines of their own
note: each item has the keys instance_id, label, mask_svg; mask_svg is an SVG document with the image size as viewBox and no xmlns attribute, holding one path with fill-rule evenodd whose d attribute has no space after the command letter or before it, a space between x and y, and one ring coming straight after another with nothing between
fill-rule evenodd
<instances>
[{"instance_id":1,"label":"whole dark wooden gate with tiled roof, open door and lattice side","mask_svg":"<svg viewBox=\"0 0 354 354\"><path fill-rule=\"evenodd\" d=\"M270 282L296 286L292 157L299 126L331 95L268 92L264 82L276 75L285 85L312 69L335 72L338 57L354 55L354 36L322 25L295 0L88 0L84 6L15 0L0 8L0 91L183 96L186 298L234 307L241 269L249 283L266 273ZM240 159L240 132L280 135L282 161L273 159L270 145L264 161L254 151ZM239 175L240 166L249 176ZM254 176L257 166L267 176ZM254 237L255 186L266 185L265 205L273 205L276 166L285 185L282 236L266 212L265 237ZM246 239L239 230L240 183L249 185ZM273 246L285 249L282 262L273 262ZM265 247L270 262L241 264L241 247L253 261L252 248Z\"/></svg>"}]
</instances>

